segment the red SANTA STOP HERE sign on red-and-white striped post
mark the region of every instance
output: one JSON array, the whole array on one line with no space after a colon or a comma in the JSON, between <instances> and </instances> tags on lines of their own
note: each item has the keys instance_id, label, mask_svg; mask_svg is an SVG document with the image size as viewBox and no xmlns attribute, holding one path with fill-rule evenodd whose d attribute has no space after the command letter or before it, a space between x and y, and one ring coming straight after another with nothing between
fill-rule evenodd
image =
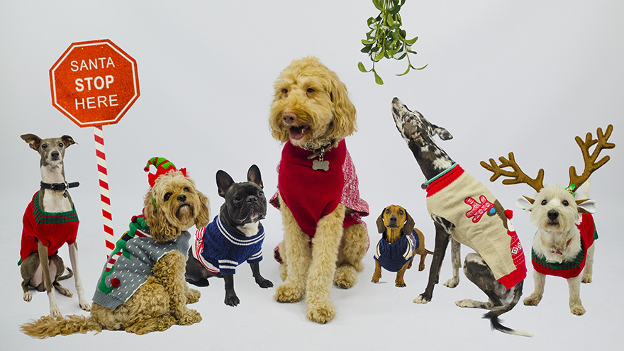
<instances>
[{"instance_id":1,"label":"red SANTA STOP HERE sign on red-and-white striped post","mask_svg":"<svg viewBox=\"0 0 624 351\"><path fill-rule=\"evenodd\" d=\"M136 61L111 40L72 43L50 68L52 106L79 127L93 127L106 257L115 248L102 126L114 124L140 96Z\"/></svg>"}]
</instances>

